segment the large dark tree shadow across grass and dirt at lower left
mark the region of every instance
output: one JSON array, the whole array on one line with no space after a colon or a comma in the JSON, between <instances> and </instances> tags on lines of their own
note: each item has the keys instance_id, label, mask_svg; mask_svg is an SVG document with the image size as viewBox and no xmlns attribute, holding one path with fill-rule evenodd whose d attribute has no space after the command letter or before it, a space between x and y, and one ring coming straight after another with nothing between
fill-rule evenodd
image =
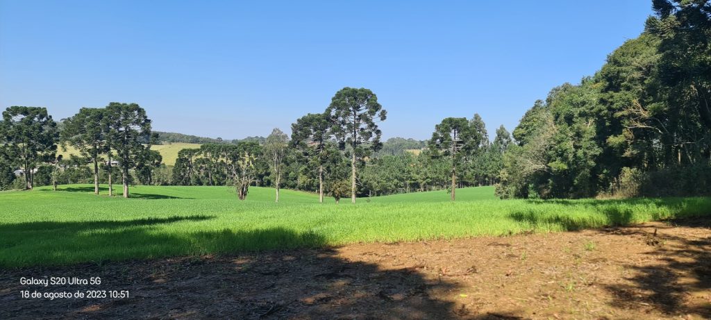
<instances>
[{"instance_id":1,"label":"large dark tree shadow across grass and dirt at lower left","mask_svg":"<svg viewBox=\"0 0 711 320\"><path fill-rule=\"evenodd\" d=\"M88 226L55 223L48 230L43 230L46 225L41 223L28 223L3 225L0 232L12 233L18 229L13 238L28 230L34 232L34 236L41 238L34 240L45 243L36 248L40 250L37 254L55 258L77 250L113 260L121 257L112 255L117 251L150 257L174 255L181 250L188 254L245 252L249 248L300 249L0 270L0 287L4 288L0 291L0 301L4 304L0 318L42 314L50 318L100 319L126 316L141 319L520 319L509 314L472 314L464 306L456 308L454 302L438 299L444 295L451 297L451 292L456 292L459 287L454 282L427 277L412 268L384 270L377 264L346 260L330 248L318 249L327 242L319 233L269 228L166 234L151 229L156 223L169 221L132 220L117 225L104 221ZM82 228L104 232L82 232ZM51 241L52 235L58 233L61 233L60 239ZM74 247L68 247L70 243ZM26 245L8 247L4 244L0 250L4 254L28 255L28 252L15 251ZM101 252L105 252L104 255ZM46 289L18 283L20 277L53 274L101 277L102 284L100 287L65 285ZM23 289L128 290L129 298L38 301L21 299L18 292Z\"/></svg>"}]
</instances>

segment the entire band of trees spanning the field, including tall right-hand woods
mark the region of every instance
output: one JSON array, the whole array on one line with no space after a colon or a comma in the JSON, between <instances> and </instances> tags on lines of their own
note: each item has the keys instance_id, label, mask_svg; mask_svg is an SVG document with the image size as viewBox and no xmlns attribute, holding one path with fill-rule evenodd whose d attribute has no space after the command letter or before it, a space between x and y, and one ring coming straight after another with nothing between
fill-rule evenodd
<instances>
[{"instance_id":1,"label":"entire band of trees spanning the field, including tall right-hand woods","mask_svg":"<svg viewBox=\"0 0 711 320\"><path fill-rule=\"evenodd\" d=\"M368 89L336 92L291 137L223 141L151 132L146 112L112 102L55 123L45 108L9 107L0 123L0 189L63 183L274 186L350 196L496 185L501 198L711 193L711 6L653 1L638 38L579 84L552 88L509 132L446 117L432 139L380 141L387 112ZM191 142L175 166L151 144ZM70 145L80 155L56 156ZM114 180L112 180L114 179ZM98 188L97 188L98 193Z\"/></svg>"}]
</instances>

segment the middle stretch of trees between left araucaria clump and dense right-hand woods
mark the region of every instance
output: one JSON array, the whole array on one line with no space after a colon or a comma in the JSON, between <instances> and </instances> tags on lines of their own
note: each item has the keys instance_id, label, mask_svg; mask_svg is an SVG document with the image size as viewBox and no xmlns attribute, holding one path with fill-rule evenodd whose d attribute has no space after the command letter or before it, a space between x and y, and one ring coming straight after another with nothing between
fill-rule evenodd
<instances>
[{"instance_id":1,"label":"middle stretch of trees between left araucaria clump and dense right-hand woods","mask_svg":"<svg viewBox=\"0 0 711 320\"><path fill-rule=\"evenodd\" d=\"M320 202L324 195L336 201L350 196L354 202L358 196L453 191L461 186L496 183L503 153L511 143L503 126L489 142L486 124L474 114L472 119L444 119L428 142L391 138L383 144L378 122L385 120L386 114L372 91L343 88L324 112L296 119L291 137L274 129L263 144L252 143L255 160L250 181L274 187L276 201L279 188L284 186L318 193ZM458 126L454 136L444 127L451 120ZM464 134L457 135L460 129ZM454 154L450 146L456 149ZM230 159L237 159L238 154L237 148L227 144L183 149L178 153L172 181L186 186L229 185ZM451 181L447 178L450 174Z\"/></svg>"}]
</instances>

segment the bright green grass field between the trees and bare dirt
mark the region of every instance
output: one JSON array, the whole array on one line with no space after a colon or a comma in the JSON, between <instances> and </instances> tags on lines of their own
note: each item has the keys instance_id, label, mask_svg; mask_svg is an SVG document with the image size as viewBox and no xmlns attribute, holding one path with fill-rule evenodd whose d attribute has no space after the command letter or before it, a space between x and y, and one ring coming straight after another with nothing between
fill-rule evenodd
<instances>
[{"instance_id":1,"label":"bright green grass field between the trees and bare dirt","mask_svg":"<svg viewBox=\"0 0 711 320\"><path fill-rule=\"evenodd\" d=\"M501 201L493 188L348 199L227 187L137 186L134 198L94 196L91 185L0 192L0 266L201 255L248 250L537 233L710 213L711 198ZM106 193L105 186L102 193Z\"/></svg>"}]
</instances>

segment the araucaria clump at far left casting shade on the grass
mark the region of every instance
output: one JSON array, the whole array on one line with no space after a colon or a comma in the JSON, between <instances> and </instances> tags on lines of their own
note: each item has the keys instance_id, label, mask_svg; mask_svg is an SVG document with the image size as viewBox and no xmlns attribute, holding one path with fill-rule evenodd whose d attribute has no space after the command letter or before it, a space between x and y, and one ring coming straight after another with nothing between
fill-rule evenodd
<instances>
[{"instance_id":1,"label":"araucaria clump at far left casting shade on the grass","mask_svg":"<svg viewBox=\"0 0 711 320\"><path fill-rule=\"evenodd\" d=\"M25 189L37 184L53 184L56 189L60 183L85 183L92 177L99 194L99 183L106 181L100 169L105 169L111 186L117 174L112 160L117 159L123 196L128 198L133 176L152 181L153 169L161 162L160 155L149 150L150 120L136 104L112 102L105 108L82 108L64 119L61 129L46 108L9 107L0 122L0 137L0 188L11 188L15 173L24 176ZM73 146L79 156L56 156L60 144ZM129 173L134 169L136 173Z\"/></svg>"}]
</instances>

